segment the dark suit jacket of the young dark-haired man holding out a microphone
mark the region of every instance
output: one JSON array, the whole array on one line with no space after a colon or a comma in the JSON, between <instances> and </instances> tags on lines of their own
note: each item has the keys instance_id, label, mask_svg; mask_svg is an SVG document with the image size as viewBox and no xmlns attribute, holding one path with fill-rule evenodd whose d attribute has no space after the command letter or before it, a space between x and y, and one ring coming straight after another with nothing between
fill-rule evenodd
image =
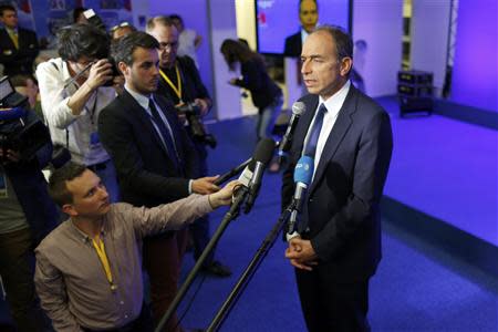
<instances>
[{"instance_id":1,"label":"dark suit jacket of the young dark-haired man holding out a microphone","mask_svg":"<svg viewBox=\"0 0 498 332\"><path fill-rule=\"evenodd\" d=\"M185 176L196 178L197 156L173 104L162 96L154 97L174 133ZM98 136L116 167L124 201L153 207L188 196L189 179L178 174L149 115L128 92L101 112Z\"/></svg>"}]
</instances>

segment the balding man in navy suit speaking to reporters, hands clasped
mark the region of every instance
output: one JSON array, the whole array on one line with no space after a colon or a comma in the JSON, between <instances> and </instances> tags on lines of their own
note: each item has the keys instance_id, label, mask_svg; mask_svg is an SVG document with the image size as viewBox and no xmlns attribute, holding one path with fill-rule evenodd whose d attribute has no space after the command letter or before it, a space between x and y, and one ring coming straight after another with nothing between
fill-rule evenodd
<instances>
[{"instance_id":1,"label":"balding man in navy suit speaking to reporters, hands clasped","mask_svg":"<svg viewBox=\"0 0 498 332\"><path fill-rule=\"evenodd\" d=\"M380 200L392 154L387 113L349 81L351 37L320 27L301 59L309 95L283 174L282 205L294 191L301 155L314 173L300 216L300 236L286 257L310 331L369 331L369 280L381 260Z\"/></svg>"}]
</instances>

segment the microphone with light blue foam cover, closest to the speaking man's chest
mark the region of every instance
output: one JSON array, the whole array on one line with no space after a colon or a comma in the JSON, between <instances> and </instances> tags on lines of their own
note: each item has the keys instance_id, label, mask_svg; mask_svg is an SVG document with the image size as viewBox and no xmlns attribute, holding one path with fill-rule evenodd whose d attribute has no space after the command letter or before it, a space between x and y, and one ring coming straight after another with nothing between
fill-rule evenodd
<instances>
[{"instance_id":1,"label":"microphone with light blue foam cover, closest to the speaking man's chest","mask_svg":"<svg viewBox=\"0 0 498 332\"><path fill-rule=\"evenodd\" d=\"M307 189L313 178L314 160L309 156L302 156L294 168L295 190L292 198L292 212L289 219L288 231L286 238L290 239L299 236L297 231L298 215L301 212L302 205L305 201Z\"/></svg>"}]
</instances>

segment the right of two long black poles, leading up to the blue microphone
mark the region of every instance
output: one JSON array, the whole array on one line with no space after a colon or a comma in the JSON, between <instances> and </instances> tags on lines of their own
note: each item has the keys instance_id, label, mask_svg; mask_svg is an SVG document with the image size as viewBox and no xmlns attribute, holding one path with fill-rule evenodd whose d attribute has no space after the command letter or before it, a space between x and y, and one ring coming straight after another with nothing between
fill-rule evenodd
<instances>
[{"instance_id":1,"label":"right of two long black poles, leading up to the blue microphone","mask_svg":"<svg viewBox=\"0 0 498 332\"><path fill-rule=\"evenodd\" d=\"M221 324L224 323L227 315L230 313L231 309L234 308L234 304L238 301L240 294L246 289L247 284L250 282L252 276L258 270L259 266L261 264L262 260L267 257L269 250L271 247L273 247L274 241L277 240L277 237L280 234L280 230L286 225L286 222L289 220L290 215L295 209L295 201L293 200L286 210L280 215L277 224L273 226L273 228L270 230L268 236L262 241L261 246L256 251L256 255L252 257L252 260L246 268L246 270L240 276L239 280L237 281L236 286L231 290L230 294L227 297L225 302L221 304L221 308L218 310L216 317L212 319L211 323L207 328L207 332L218 331Z\"/></svg>"}]
</instances>

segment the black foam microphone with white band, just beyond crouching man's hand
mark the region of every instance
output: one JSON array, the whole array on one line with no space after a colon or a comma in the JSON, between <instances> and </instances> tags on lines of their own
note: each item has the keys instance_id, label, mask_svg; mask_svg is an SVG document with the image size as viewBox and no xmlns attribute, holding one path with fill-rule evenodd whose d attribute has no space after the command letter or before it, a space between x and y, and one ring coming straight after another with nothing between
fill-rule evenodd
<instances>
[{"instance_id":1,"label":"black foam microphone with white band, just beyond crouching man's hand","mask_svg":"<svg viewBox=\"0 0 498 332\"><path fill-rule=\"evenodd\" d=\"M261 178L264 173L264 167L270 163L274 151L274 141L271 138L263 138L259 141L255 151L255 172L249 181L249 197L246 203L245 214L249 214L258 197L259 188L261 187Z\"/></svg>"}]
</instances>

